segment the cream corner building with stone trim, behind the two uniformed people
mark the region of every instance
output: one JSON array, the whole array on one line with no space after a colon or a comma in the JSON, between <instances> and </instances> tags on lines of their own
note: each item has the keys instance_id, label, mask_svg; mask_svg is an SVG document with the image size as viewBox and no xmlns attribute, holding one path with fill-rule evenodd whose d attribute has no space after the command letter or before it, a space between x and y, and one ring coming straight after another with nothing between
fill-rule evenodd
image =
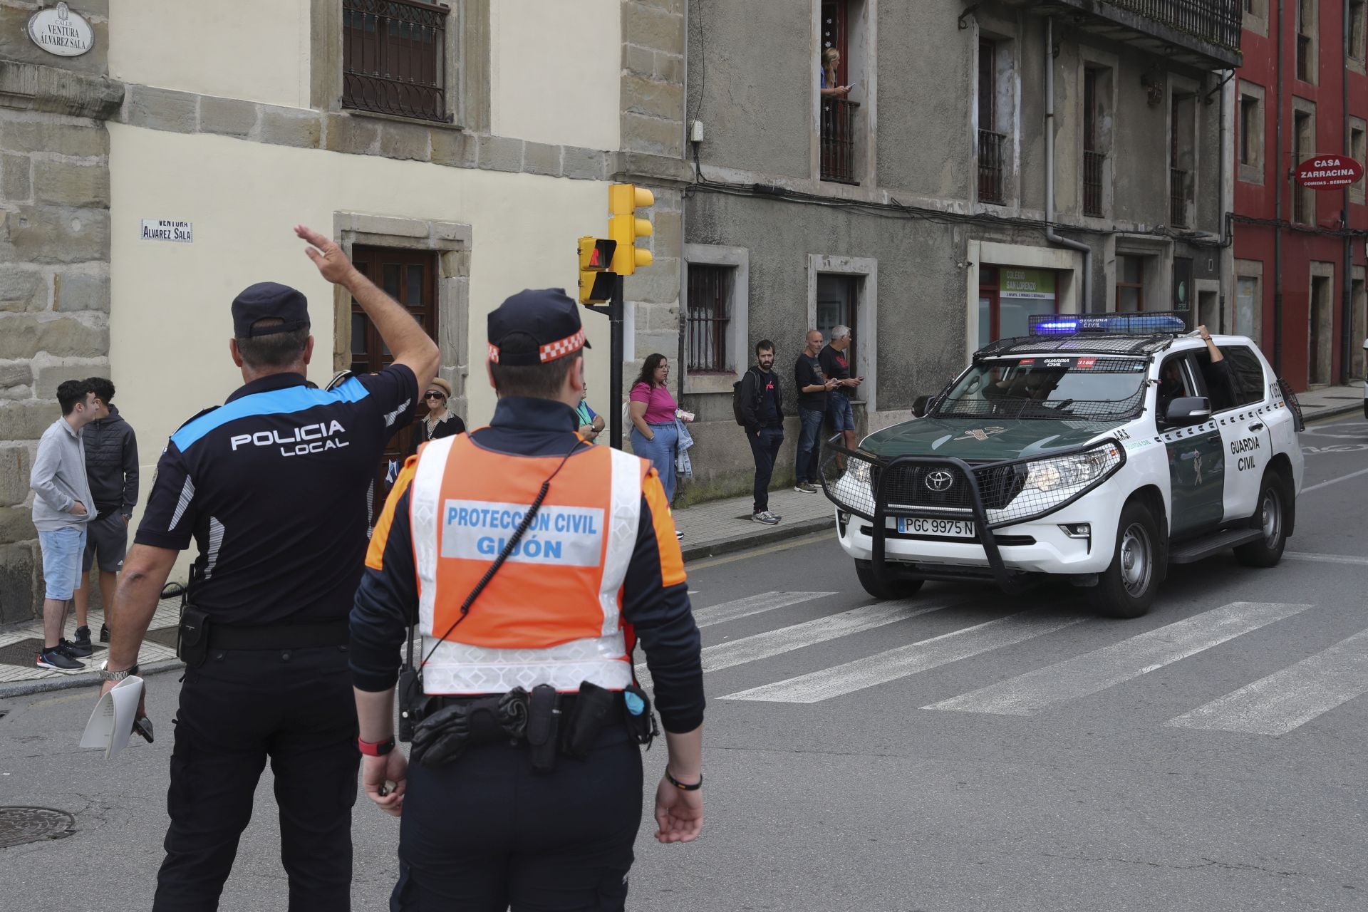
<instances>
[{"instance_id":1,"label":"cream corner building with stone trim, behind the two uniformed people","mask_svg":"<svg viewBox=\"0 0 1368 912\"><path fill-rule=\"evenodd\" d=\"M56 5L0 0L0 623L41 604L29 469L62 380L112 377L145 496L166 438L241 383L242 287L305 291L316 383L383 364L295 223L394 279L479 425L486 314L524 287L573 290L575 239L602 235L609 183L633 180L655 190L655 267L627 286L627 356L677 345L683 0L74 0L93 31L79 56L26 31ZM410 59L421 94L390 78ZM160 222L193 239L156 239ZM588 360L601 412L607 357Z\"/></svg>"}]
</instances>

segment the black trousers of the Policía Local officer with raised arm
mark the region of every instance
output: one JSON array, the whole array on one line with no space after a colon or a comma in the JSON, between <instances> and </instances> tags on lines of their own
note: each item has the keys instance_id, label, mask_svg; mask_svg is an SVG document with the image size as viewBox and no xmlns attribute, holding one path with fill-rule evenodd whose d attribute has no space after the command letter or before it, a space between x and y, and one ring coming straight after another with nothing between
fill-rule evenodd
<instances>
[{"instance_id":1,"label":"black trousers of the Polic\u00eda Local officer with raised arm","mask_svg":"<svg viewBox=\"0 0 1368 912\"><path fill-rule=\"evenodd\" d=\"M269 757L290 909L349 909L356 701L346 647L212 651L186 671L153 909L219 908Z\"/></svg>"}]
</instances>

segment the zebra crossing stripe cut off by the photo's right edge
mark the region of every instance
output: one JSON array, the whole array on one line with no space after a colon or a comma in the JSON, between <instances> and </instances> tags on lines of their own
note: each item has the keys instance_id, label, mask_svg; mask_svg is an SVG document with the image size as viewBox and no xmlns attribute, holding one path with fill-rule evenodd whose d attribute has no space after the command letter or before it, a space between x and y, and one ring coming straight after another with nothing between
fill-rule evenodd
<instances>
[{"instance_id":1,"label":"zebra crossing stripe cut off by the photo's right edge","mask_svg":"<svg viewBox=\"0 0 1368 912\"><path fill-rule=\"evenodd\" d=\"M1164 725L1279 736L1368 692L1368 630Z\"/></svg>"}]
</instances>

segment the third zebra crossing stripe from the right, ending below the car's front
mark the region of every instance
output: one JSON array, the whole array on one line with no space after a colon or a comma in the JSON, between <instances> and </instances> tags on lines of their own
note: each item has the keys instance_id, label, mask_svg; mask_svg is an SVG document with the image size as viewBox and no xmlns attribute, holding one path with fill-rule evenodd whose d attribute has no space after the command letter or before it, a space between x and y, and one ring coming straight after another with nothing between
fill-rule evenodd
<instances>
[{"instance_id":1,"label":"third zebra crossing stripe from the right, ending below the car's front","mask_svg":"<svg viewBox=\"0 0 1368 912\"><path fill-rule=\"evenodd\" d=\"M906 678L951 662L959 662L981 652L997 649L1038 637L1073 623L1086 621L1079 617L1012 614L996 621L977 623L929 640L910 643L896 649L865 659L847 662L787 681L728 693L724 700L762 700L769 703L819 703L832 697L863 690L878 684Z\"/></svg>"}]
</instances>

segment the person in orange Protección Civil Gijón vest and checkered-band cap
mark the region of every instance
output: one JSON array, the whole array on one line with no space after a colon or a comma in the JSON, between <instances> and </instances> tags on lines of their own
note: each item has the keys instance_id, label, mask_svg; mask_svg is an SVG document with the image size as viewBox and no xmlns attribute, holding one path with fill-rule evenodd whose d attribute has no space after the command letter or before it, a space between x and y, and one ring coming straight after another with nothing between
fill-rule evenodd
<instances>
[{"instance_id":1,"label":"person in orange Protecci\u00f3n Civil Gij\u00f3n vest and checkered-band cap","mask_svg":"<svg viewBox=\"0 0 1368 912\"><path fill-rule=\"evenodd\" d=\"M494 420L412 457L371 539L352 681L363 786L402 814L395 909L624 908L650 734L636 637L669 747L657 840L703 826L703 674L674 524L644 459L576 432L587 346L564 291L494 310ZM421 693L399 699L423 722L405 760L410 623Z\"/></svg>"}]
</instances>

